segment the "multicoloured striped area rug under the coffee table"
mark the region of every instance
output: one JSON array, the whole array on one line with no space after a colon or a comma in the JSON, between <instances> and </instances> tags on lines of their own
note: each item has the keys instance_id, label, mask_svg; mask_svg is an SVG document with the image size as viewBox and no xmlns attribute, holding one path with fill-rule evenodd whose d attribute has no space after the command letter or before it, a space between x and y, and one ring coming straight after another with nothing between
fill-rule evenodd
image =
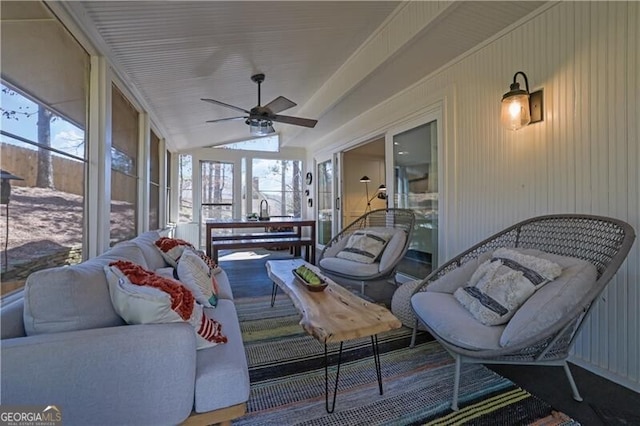
<instances>
[{"instance_id":1,"label":"multicoloured striped area rug under the coffee table","mask_svg":"<svg viewBox=\"0 0 640 426\"><path fill-rule=\"evenodd\" d=\"M234 425L577 425L482 365L462 367L460 410L450 407L453 359L426 333L409 348L406 328L378 336L384 394L369 338L345 342L336 409L325 410L324 345L305 334L286 296L236 300L249 362L247 414ZM330 365L337 345L329 346ZM329 379L335 378L335 366Z\"/></svg>"}]
</instances>

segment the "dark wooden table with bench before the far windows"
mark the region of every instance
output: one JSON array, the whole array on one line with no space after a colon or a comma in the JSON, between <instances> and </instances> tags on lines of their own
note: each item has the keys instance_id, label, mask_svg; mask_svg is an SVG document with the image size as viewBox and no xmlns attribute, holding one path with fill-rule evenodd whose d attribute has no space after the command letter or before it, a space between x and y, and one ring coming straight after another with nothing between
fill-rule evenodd
<instances>
[{"instance_id":1,"label":"dark wooden table with bench before the far windows","mask_svg":"<svg viewBox=\"0 0 640 426\"><path fill-rule=\"evenodd\" d=\"M276 247L292 246L307 247L307 260L310 263L316 261L316 221L314 219L300 219L295 217L272 217L271 220L255 221L246 219L206 219L206 250L207 256L217 262L218 250L221 248L244 247ZM246 233L234 236L233 234L215 235L214 229L248 229L264 227L290 227L293 232L275 232L268 235L264 232ZM310 229L310 235L302 236L302 228Z\"/></svg>"}]
</instances>

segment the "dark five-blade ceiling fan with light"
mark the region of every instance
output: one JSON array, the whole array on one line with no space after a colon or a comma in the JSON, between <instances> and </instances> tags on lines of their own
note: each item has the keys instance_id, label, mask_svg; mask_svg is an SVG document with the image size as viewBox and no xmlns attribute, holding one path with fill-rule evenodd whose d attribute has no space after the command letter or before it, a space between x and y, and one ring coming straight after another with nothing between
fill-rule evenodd
<instances>
[{"instance_id":1,"label":"dark five-blade ceiling fan with light","mask_svg":"<svg viewBox=\"0 0 640 426\"><path fill-rule=\"evenodd\" d=\"M318 120L312 120L310 118L292 117L289 115L279 115L278 113L289 108L293 108L297 104L284 96L278 96L268 104L260 105L260 84L264 81L264 74L255 74L251 76L251 80L258 84L258 106L251 108L250 111L246 109L226 104L224 102L216 101L215 99L202 98L201 100L216 105L221 105L227 108L235 109L245 113L245 116L241 117L228 117L220 118L217 120L208 120L207 123L217 123L220 121L230 120L244 120L249 125L252 135L263 136L274 133L273 122L293 124L295 126L304 126L313 128Z\"/></svg>"}]
</instances>

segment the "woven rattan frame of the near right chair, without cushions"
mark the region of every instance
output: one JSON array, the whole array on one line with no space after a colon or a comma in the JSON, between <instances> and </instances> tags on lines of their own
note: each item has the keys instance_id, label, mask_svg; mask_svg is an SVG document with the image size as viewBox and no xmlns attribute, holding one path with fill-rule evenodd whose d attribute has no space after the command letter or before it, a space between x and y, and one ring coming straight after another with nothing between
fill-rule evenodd
<instances>
[{"instance_id":1,"label":"woven rattan frame of the near right chair, without cushions","mask_svg":"<svg viewBox=\"0 0 640 426\"><path fill-rule=\"evenodd\" d=\"M538 249L547 253L575 257L592 263L597 270L596 281L573 310L538 335L509 347L470 350L456 346L438 335L428 323L421 321L416 315L411 345L415 342L417 325L420 321L455 359L452 409L458 409L460 368L463 362L562 366L574 399L582 401L567 358L585 324L585 319L596 305L594 302L599 299L626 259L634 240L635 232L631 225L618 219L582 214L539 216L498 232L429 274L413 294L426 291L430 283L482 253L501 247Z\"/></svg>"}]
</instances>

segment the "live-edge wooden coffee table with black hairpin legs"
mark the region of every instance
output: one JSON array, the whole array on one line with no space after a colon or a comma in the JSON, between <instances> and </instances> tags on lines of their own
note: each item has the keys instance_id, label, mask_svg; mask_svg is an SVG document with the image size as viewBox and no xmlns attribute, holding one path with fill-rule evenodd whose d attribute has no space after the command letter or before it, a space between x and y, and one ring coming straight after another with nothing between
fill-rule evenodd
<instances>
[{"instance_id":1,"label":"live-edge wooden coffee table with black hairpin legs","mask_svg":"<svg viewBox=\"0 0 640 426\"><path fill-rule=\"evenodd\" d=\"M300 265L307 266L324 278L328 283L327 288L321 292L307 290L293 275L293 270ZM400 320L385 307L368 302L329 278L324 277L317 267L301 259L269 260L266 266L267 274L273 281L271 306L275 303L278 288L281 288L291 298L294 306L302 315L300 320L302 328L324 343L325 408L327 412L333 413L336 406L342 344L348 340L371 337L371 348L378 377L378 389L380 395L382 395L378 333L400 328L402 326ZM331 406L329 405L328 343L340 343Z\"/></svg>"}]
</instances>

